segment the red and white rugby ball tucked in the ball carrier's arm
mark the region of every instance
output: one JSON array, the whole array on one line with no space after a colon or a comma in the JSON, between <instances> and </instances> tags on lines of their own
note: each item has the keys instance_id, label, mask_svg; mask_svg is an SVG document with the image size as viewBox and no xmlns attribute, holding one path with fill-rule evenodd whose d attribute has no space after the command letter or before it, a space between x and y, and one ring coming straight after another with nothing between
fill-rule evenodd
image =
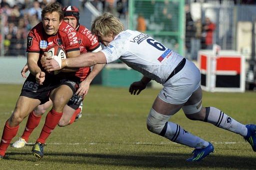
<instances>
[{"instance_id":1,"label":"red and white rugby ball tucked in the ball carrier's arm","mask_svg":"<svg viewBox=\"0 0 256 170\"><path fill-rule=\"evenodd\" d=\"M56 60L66 59L65 50L58 45L53 45L49 47L47 54L48 54L48 57L54 58ZM55 70L55 71L52 71L52 74L58 74L59 72L60 70Z\"/></svg>"}]
</instances>

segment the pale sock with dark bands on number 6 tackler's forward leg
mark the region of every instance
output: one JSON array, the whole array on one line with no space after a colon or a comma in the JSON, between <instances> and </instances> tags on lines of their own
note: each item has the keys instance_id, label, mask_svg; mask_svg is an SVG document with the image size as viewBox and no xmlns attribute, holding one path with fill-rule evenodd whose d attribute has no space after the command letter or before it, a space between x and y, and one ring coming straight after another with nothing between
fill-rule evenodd
<instances>
[{"instance_id":1,"label":"pale sock with dark bands on number 6 tackler's forward leg","mask_svg":"<svg viewBox=\"0 0 256 170\"><path fill-rule=\"evenodd\" d=\"M163 130L165 130L165 133L161 132L161 134L164 134L163 137L178 144L182 144L195 149L205 148L209 145L207 141L204 141L201 138L190 134L179 125L172 122L166 122Z\"/></svg>"}]
</instances>

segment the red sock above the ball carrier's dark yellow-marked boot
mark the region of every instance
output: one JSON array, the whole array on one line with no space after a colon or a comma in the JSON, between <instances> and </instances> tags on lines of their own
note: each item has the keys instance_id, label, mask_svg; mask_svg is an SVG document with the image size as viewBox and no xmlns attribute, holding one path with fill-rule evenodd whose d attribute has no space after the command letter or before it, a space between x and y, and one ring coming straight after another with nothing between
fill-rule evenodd
<instances>
[{"instance_id":1,"label":"red sock above the ball carrier's dark yellow-marked boot","mask_svg":"<svg viewBox=\"0 0 256 170\"><path fill-rule=\"evenodd\" d=\"M41 144L45 143L45 141L48 138L48 136L50 135L50 133L53 131L53 129L58 124L58 121L60 120L62 114L63 114L62 112L58 113L58 112L54 111L53 109L51 109L48 112L48 114L45 118L45 123L43 125L41 134L36 141L37 143L41 143Z\"/></svg>"}]
</instances>

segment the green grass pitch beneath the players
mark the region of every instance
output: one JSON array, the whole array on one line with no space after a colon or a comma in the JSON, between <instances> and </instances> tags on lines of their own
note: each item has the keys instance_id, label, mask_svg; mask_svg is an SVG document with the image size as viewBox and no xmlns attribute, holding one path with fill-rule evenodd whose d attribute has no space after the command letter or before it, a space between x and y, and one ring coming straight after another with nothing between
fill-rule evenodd
<instances>
[{"instance_id":1,"label":"green grass pitch beneath the players","mask_svg":"<svg viewBox=\"0 0 256 170\"><path fill-rule=\"evenodd\" d=\"M14 109L21 85L0 85L0 131ZM256 169L256 153L242 137L203 122L185 118L182 111L171 118L185 130L210 141L215 153L198 163L187 163L192 149L150 133L146 118L159 89L146 89L132 96L127 88L91 86L83 103L80 120L67 127L56 127L44 157L31 155L32 146L9 147L2 170L135 170L135 169ZM256 93L207 93L203 106L214 106L243 124L256 124ZM46 115L46 114L45 114ZM40 134L45 115L29 143ZM20 124L14 142L21 136L26 119Z\"/></svg>"}]
</instances>

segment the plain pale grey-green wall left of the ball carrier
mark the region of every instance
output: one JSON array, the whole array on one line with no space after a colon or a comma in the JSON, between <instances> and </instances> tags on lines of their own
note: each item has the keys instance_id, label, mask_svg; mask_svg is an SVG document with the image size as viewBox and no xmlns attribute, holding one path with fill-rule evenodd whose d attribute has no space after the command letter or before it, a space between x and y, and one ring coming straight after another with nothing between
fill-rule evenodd
<instances>
[{"instance_id":1,"label":"plain pale grey-green wall left of the ball carrier","mask_svg":"<svg viewBox=\"0 0 256 170\"><path fill-rule=\"evenodd\" d=\"M25 63L26 57L0 57L0 84L23 84L20 71Z\"/></svg>"}]
</instances>

